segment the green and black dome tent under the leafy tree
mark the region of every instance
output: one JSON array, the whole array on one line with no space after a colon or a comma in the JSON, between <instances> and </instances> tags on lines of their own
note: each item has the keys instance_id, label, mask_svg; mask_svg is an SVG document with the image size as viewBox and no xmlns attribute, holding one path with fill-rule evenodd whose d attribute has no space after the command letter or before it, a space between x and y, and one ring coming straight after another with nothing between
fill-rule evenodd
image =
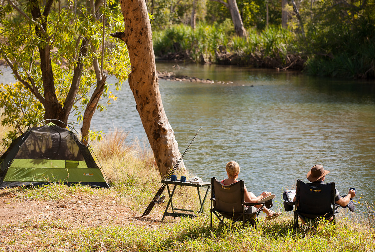
<instances>
[{"instance_id":1,"label":"green and black dome tent under the leafy tree","mask_svg":"<svg viewBox=\"0 0 375 252\"><path fill-rule=\"evenodd\" d=\"M57 125L29 128L0 157L0 188L51 182L108 188L89 148Z\"/></svg>"}]
</instances>

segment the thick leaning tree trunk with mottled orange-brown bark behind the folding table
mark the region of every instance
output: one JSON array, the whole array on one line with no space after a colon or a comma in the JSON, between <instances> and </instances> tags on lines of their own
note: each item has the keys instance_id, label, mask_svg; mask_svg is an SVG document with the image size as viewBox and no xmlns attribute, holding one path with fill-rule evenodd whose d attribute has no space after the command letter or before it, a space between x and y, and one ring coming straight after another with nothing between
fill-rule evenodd
<instances>
[{"instance_id":1,"label":"thick leaning tree trunk with mottled orange-brown bark behind the folding table","mask_svg":"<svg viewBox=\"0 0 375 252\"><path fill-rule=\"evenodd\" d=\"M165 177L181 157L174 132L166 117L159 92L151 24L144 0L120 0L125 31L112 34L123 40L129 51L129 86L136 109L153 150L160 175ZM185 172L184 163L178 169Z\"/></svg>"}]
</instances>

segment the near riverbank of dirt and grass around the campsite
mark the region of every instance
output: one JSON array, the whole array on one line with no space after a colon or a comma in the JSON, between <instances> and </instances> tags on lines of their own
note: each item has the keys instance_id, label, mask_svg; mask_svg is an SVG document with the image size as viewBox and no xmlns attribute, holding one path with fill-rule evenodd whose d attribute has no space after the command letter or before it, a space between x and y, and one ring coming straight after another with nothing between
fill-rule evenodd
<instances>
[{"instance_id":1,"label":"near riverbank of dirt and grass around the campsite","mask_svg":"<svg viewBox=\"0 0 375 252\"><path fill-rule=\"evenodd\" d=\"M374 251L374 219L345 214L337 226L320 223L295 232L292 214L257 228L210 228L209 202L196 219L161 221L166 202L140 217L160 177L152 152L127 134L93 143L110 189L52 184L0 191L0 251ZM193 174L189 174L193 175ZM166 192L165 192L166 193ZM195 191L176 191L176 204L193 208ZM278 209L275 206L274 209Z\"/></svg>"}]
</instances>

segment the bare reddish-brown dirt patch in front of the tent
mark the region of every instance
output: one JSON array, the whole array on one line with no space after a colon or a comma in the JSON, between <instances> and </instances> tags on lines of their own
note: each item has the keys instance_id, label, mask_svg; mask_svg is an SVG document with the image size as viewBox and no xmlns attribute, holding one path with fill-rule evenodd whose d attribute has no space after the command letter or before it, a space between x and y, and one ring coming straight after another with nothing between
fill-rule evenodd
<instances>
[{"instance_id":1,"label":"bare reddish-brown dirt patch in front of the tent","mask_svg":"<svg viewBox=\"0 0 375 252\"><path fill-rule=\"evenodd\" d=\"M125 203L116 202L111 196L72 195L66 199L43 201L16 199L7 193L0 193L0 252L40 251L41 245L38 243L35 246L35 240L20 242L18 237L22 237L24 233L39 233L43 222L55 223L53 228L46 230L51 233L60 228L75 230L98 226L134 225L157 228L162 225L162 214L157 208L162 206L156 206L148 216L140 218L141 214L131 210ZM173 219L163 223L169 221ZM40 243L43 244L43 241ZM49 246L45 246L45 251L49 251Z\"/></svg>"}]
</instances>

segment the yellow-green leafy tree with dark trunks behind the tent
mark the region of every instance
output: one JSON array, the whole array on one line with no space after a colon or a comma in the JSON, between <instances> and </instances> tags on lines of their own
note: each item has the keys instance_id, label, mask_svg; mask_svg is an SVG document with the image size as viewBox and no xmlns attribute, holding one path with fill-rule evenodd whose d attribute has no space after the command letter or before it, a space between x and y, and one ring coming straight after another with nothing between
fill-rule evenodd
<instances>
[{"instance_id":1,"label":"yellow-green leafy tree with dark trunks behind the tent","mask_svg":"<svg viewBox=\"0 0 375 252\"><path fill-rule=\"evenodd\" d=\"M18 81L1 83L1 124L18 131L43 117L66 123L70 116L89 127L94 111L116 99L106 74L119 89L130 63L126 45L109 36L123 27L115 1L8 0L0 23L0 54Z\"/></svg>"}]
</instances>

